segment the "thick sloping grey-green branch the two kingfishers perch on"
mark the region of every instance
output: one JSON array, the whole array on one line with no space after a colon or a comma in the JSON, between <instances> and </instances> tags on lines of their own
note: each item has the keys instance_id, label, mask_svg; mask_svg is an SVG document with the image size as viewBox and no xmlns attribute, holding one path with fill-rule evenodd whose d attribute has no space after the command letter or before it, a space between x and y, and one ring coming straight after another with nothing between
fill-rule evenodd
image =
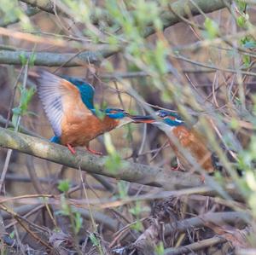
<instances>
[{"instance_id":1,"label":"thick sloping grey-green branch the two kingfishers perch on","mask_svg":"<svg viewBox=\"0 0 256 255\"><path fill-rule=\"evenodd\" d=\"M106 167L107 157L88 154L85 150L78 150L77 154L73 155L61 145L3 128L0 128L0 146L76 169L80 167L90 173L168 190L198 187L202 184L201 178L191 173L168 171L125 160L122 161L119 171L109 171Z\"/></svg>"}]
</instances>

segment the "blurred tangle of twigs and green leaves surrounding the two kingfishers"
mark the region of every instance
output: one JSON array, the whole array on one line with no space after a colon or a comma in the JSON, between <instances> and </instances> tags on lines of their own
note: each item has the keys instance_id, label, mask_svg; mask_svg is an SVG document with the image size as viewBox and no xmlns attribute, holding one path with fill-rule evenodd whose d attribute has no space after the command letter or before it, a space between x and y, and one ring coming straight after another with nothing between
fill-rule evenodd
<instances>
[{"instance_id":1,"label":"blurred tangle of twigs and green leaves surrounding the two kingfishers","mask_svg":"<svg viewBox=\"0 0 256 255\"><path fill-rule=\"evenodd\" d=\"M43 240L35 242L14 214L3 214L3 233L18 240L16 251L24 252L28 245L41 252L53 252L55 246L53 254L183 254L178 247L196 246L215 235L224 241L215 240L213 246L198 250L189 248L196 254L248 254L247 249L253 249L255 8L254 1L244 0L1 0L3 127L8 122L15 131L22 126L33 136L49 139L53 135L36 92L35 71L44 67L93 84L96 107L119 107L140 114L153 113L154 109L179 113L189 126L196 125L206 136L208 147L223 168L207 179L207 185L216 190L214 194L184 191L183 196L156 201L154 194L160 188L107 177L96 181L85 172L19 151L6 154L7 150L1 149L1 199L25 196L26 200L9 200L4 205L24 210L22 220L28 218L36 224L29 224L32 233L40 227L37 235ZM91 148L108 157L109 171L119 171L120 159L166 169L177 164L166 135L152 125L131 124L113 130L110 136L91 142ZM228 194L229 187L236 191L236 198ZM58 195L58 205L48 205L46 198L30 197L40 193ZM148 195L147 200L140 198L143 194ZM85 200L84 206L73 206L79 200ZM92 204L96 201L96 205L106 203L104 208L108 208L99 210L86 200ZM108 206L113 201L117 204ZM31 210L35 210L32 216L24 216ZM160 217L160 212L168 219ZM228 217L231 212L237 212L243 223L230 214L230 225L221 224L214 214L227 213L224 215ZM172 231L166 239L162 229L154 229L155 234L152 223L145 220L157 218L165 225L207 213L212 213L213 223L201 223L193 231ZM239 213L246 213L246 217ZM237 231L245 231L247 238L241 240ZM146 240L143 246L140 238ZM151 251L148 246L152 244ZM2 250L8 248L2 246Z\"/></svg>"}]
</instances>

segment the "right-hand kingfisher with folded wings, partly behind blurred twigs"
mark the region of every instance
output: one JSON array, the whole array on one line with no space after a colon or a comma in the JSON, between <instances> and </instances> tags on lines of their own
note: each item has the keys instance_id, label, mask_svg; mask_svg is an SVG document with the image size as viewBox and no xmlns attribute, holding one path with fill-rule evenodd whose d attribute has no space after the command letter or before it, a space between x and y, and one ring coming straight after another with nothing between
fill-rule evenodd
<instances>
[{"instance_id":1,"label":"right-hand kingfisher with folded wings, partly behind blurred twigs","mask_svg":"<svg viewBox=\"0 0 256 255\"><path fill-rule=\"evenodd\" d=\"M201 136L197 130L189 129L183 119L176 113L160 110L155 112L157 118L151 115L134 118L137 122L151 123L163 130L169 137L170 146L177 156L177 168L184 171L193 169L193 165L186 158L185 154L179 149L184 148L190 156L201 165L201 168L208 173L212 173L215 169L212 152L207 148L205 137ZM175 139L176 138L176 139ZM178 144L177 144L178 143Z\"/></svg>"}]
</instances>

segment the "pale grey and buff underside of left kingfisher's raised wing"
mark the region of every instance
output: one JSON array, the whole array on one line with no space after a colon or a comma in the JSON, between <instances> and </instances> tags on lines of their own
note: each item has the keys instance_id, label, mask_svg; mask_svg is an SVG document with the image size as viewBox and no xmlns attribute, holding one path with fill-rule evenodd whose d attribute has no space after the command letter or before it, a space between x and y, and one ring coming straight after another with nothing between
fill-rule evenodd
<instances>
[{"instance_id":1,"label":"pale grey and buff underside of left kingfisher's raised wing","mask_svg":"<svg viewBox=\"0 0 256 255\"><path fill-rule=\"evenodd\" d=\"M64 116L63 101L76 100L80 97L79 89L67 81L42 70L38 72L38 96L43 103L44 111L55 132L55 136L61 136L61 120Z\"/></svg>"}]
</instances>

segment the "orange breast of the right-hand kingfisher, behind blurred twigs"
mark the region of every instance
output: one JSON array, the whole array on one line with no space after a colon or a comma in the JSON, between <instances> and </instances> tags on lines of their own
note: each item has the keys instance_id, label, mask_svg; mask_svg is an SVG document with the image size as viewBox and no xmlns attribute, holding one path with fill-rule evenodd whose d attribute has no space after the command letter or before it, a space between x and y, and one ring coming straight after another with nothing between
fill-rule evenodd
<instances>
[{"instance_id":1,"label":"orange breast of the right-hand kingfisher, behind blurred twigs","mask_svg":"<svg viewBox=\"0 0 256 255\"><path fill-rule=\"evenodd\" d=\"M214 171L212 153L203 142L206 139L204 136L198 134L196 130L188 130L183 125L173 128L172 134L173 136L177 137L180 145L191 154L191 156L199 165L201 165L203 169L208 172ZM189 163L189 160L186 159L185 155L180 152L178 147L171 140L170 145L183 169L186 171L193 169L193 165Z\"/></svg>"}]
</instances>

